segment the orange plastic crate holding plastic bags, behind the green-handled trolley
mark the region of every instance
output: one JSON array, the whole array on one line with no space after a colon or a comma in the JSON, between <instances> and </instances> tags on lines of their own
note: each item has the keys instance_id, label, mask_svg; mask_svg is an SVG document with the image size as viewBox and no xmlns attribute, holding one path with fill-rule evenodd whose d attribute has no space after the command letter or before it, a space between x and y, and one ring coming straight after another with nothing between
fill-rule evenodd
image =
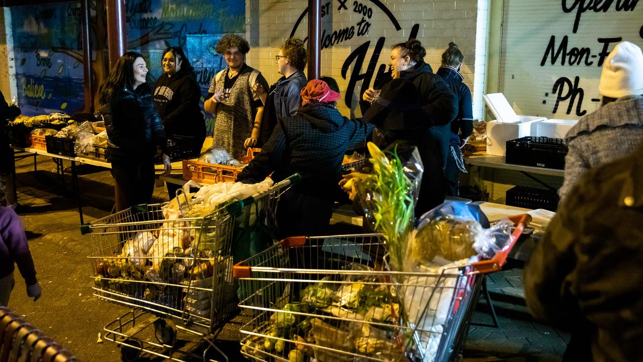
<instances>
[{"instance_id":1,"label":"orange plastic crate holding plastic bags, behind the green-handled trolley","mask_svg":"<svg viewBox=\"0 0 643 362\"><path fill-rule=\"evenodd\" d=\"M248 154L239 158L239 161L248 164L251 159L255 158L255 153L260 151L261 149L248 149ZM192 180L209 184L237 181L237 175L241 170L243 170L242 167L215 165L189 159L183 160L183 179L185 181Z\"/></svg>"}]
</instances>

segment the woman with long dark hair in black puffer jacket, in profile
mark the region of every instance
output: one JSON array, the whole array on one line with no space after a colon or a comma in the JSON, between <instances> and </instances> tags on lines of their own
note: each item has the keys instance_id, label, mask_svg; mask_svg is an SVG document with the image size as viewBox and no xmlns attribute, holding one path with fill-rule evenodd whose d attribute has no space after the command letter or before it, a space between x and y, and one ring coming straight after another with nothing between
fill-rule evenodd
<instances>
[{"instance_id":1,"label":"woman with long dark hair in black puffer jacket, in profile","mask_svg":"<svg viewBox=\"0 0 643 362\"><path fill-rule=\"evenodd\" d=\"M107 161L112 164L116 211L149 204L154 191L154 155L163 152L164 174L172 170L167 138L152 102L143 55L128 51L100 86L101 113L107 128Z\"/></svg>"}]
</instances>

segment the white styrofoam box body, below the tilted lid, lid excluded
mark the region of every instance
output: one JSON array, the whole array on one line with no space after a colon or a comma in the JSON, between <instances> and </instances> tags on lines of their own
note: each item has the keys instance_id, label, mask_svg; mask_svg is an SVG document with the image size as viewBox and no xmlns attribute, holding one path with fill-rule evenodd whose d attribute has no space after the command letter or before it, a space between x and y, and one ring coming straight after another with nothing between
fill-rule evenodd
<instances>
[{"instance_id":1,"label":"white styrofoam box body, below the tilted lid, lid excluded","mask_svg":"<svg viewBox=\"0 0 643 362\"><path fill-rule=\"evenodd\" d=\"M516 123L491 121L487 123L487 154L505 157L507 141L533 136L543 117L519 116Z\"/></svg>"}]
</instances>

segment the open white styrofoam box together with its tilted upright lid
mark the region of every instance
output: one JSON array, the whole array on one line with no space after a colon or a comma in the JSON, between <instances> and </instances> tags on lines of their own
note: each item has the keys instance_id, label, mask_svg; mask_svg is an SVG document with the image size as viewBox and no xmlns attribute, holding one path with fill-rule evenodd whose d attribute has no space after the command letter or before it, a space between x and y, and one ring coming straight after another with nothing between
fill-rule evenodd
<instances>
[{"instance_id":1,"label":"open white styrofoam box together with its tilted upright lid","mask_svg":"<svg viewBox=\"0 0 643 362\"><path fill-rule=\"evenodd\" d=\"M496 116L496 120L487 123L487 154L504 157L507 141L535 136L538 122L547 120L545 117L516 114L502 93L491 93L483 98Z\"/></svg>"}]
</instances>

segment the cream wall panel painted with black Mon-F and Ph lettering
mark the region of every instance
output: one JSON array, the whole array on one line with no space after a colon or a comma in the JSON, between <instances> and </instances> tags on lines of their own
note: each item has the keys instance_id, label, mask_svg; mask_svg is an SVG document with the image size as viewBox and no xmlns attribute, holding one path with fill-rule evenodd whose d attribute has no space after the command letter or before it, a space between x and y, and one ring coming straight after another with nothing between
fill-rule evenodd
<instances>
[{"instance_id":1,"label":"cream wall panel painted with black Mon-F and Ph lettering","mask_svg":"<svg viewBox=\"0 0 643 362\"><path fill-rule=\"evenodd\" d=\"M578 119L601 102L605 57L643 48L638 0L505 0L500 89L521 114Z\"/></svg>"}]
</instances>

